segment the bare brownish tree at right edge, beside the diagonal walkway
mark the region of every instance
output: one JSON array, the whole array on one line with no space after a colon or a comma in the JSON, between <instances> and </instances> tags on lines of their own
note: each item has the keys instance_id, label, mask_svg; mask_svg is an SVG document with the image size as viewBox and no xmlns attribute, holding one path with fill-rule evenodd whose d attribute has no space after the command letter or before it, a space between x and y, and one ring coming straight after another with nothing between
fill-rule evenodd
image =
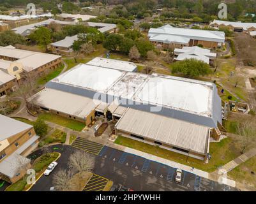
<instances>
[{"instance_id":1,"label":"bare brownish tree at right edge, beside the diagonal walkway","mask_svg":"<svg viewBox=\"0 0 256 204\"><path fill-rule=\"evenodd\" d=\"M236 133L239 135L241 144L241 154L246 150L256 147L256 121L255 117L252 120L245 120L236 125Z\"/></svg>"}]
</instances>

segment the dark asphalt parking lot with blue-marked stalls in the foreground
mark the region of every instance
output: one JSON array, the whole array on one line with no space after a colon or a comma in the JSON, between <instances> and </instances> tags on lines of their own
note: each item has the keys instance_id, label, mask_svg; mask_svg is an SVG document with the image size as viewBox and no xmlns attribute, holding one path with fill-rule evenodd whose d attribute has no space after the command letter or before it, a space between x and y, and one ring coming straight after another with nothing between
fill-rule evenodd
<instances>
[{"instance_id":1,"label":"dark asphalt parking lot with blue-marked stalls in the foreground","mask_svg":"<svg viewBox=\"0 0 256 204\"><path fill-rule=\"evenodd\" d=\"M69 145L54 145L51 148L61 152L61 157L57 161L58 166L48 177L41 177L30 191L49 191L53 186L54 173L60 168L68 169L70 154L76 150L82 151ZM41 150L37 150L30 156L35 158L40 155ZM134 191L236 191L232 187L220 185L185 171L183 171L181 183L176 184L175 168L106 146L98 156L89 155L95 161L93 173L112 180L114 184L130 187Z\"/></svg>"}]
</instances>

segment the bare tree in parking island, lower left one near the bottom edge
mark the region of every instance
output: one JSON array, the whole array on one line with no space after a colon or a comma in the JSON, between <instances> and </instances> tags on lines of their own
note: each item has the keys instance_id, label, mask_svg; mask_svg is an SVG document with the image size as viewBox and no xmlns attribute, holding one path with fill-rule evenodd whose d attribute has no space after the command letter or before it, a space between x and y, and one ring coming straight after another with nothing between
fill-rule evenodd
<instances>
[{"instance_id":1,"label":"bare tree in parking island, lower left one near the bottom edge","mask_svg":"<svg viewBox=\"0 0 256 204\"><path fill-rule=\"evenodd\" d=\"M57 191L70 191L72 188L70 186L70 180L73 177L73 172L71 170L59 170L52 177L52 184Z\"/></svg>"}]
</instances>

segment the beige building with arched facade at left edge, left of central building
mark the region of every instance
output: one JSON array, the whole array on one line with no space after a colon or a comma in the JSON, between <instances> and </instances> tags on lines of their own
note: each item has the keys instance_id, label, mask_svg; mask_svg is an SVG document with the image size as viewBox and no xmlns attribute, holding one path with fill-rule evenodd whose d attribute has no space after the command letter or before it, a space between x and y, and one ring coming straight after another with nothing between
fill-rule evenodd
<instances>
[{"instance_id":1,"label":"beige building with arched facade at left edge, left of central building","mask_svg":"<svg viewBox=\"0 0 256 204\"><path fill-rule=\"evenodd\" d=\"M0 92L6 95L17 89L26 76L40 77L62 64L61 56L31 52L15 47L0 47Z\"/></svg>"}]
</instances>

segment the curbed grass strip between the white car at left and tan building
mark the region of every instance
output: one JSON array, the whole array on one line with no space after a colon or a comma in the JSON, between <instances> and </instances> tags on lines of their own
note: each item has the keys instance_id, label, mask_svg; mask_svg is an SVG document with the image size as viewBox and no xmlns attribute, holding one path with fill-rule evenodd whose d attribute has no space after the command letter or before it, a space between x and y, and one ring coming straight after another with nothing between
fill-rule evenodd
<instances>
[{"instance_id":1,"label":"curbed grass strip between the white car at left and tan building","mask_svg":"<svg viewBox=\"0 0 256 204\"><path fill-rule=\"evenodd\" d=\"M41 175L42 171L47 168L47 166L52 163L57 157L59 153L52 152L49 154L42 155L36 161L34 161L32 168L36 171L36 178ZM27 175L25 175L22 179L18 180L15 184L11 184L8 186L5 191L23 191L27 186Z\"/></svg>"}]
</instances>

